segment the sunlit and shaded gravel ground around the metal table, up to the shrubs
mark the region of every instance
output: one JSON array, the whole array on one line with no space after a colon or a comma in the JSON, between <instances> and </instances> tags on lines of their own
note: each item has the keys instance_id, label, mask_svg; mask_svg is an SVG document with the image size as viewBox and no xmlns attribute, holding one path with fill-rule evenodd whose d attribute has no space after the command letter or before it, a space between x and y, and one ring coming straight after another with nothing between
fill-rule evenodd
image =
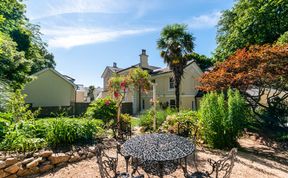
<instances>
[{"instance_id":1,"label":"sunlit and shaded gravel ground around the metal table, up to the shrubs","mask_svg":"<svg viewBox=\"0 0 288 178\"><path fill-rule=\"evenodd\" d=\"M242 138L239 143L243 151L238 151L235 166L232 170L232 178L288 178L288 154L286 151L277 151L271 147L262 145L257 140L251 138ZM220 159L227 152L220 150L208 150L204 148L197 149L197 165L198 169L209 170L210 166L207 159ZM258 151L257 151L258 150ZM260 150L260 151L259 151ZM112 150L113 151L113 150ZM188 158L189 172L195 172L195 166L192 158ZM120 158L118 169L125 171L125 162ZM130 168L131 171L131 168ZM143 170L140 173L145 174ZM81 161L72 165L68 165L61 169L52 170L44 175L36 176L43 178L100 178L96 158ZM145 174L145 177L156 177ZM175 172L164 177L182 178L183 172L178 168Z\"/></svg>"}]
</instances>

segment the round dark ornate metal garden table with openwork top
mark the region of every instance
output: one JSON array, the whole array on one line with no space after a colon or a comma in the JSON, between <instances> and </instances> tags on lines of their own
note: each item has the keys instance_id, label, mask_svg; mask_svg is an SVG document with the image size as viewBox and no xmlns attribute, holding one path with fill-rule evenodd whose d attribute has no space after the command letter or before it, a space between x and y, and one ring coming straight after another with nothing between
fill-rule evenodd
<instances>
[{"instance_id":1,"label":"round dark ornate metal garden table with openwork top","mask_svg":"<svg viewBox=\"0 0 288 178\"><path fill-rule=\"evenodd\" d=\"M145 134L133 137L122 145L121 152L126 157L126 169L130 157L137 160L156 161L160 167L167 161L185 160L184 173L187 172L187 156L195 150L187 138L174 134ZM135 168L137 169L137 167ZM134 170L135 171L135 170ZM134 172L133 171L133 172ZM163 177L161 170L160 177Z\"/></svg>"}]
</instances>

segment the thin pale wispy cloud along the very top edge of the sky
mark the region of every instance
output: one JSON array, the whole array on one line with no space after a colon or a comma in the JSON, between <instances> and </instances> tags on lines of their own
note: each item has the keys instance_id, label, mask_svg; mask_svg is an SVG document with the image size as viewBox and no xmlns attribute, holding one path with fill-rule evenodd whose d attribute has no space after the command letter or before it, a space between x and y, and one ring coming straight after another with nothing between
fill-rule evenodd
<instances>
[{"instance_id":1,"label":"thin pale wispy cloud along the very top edge of the sky","mask_svg":"<svg viewBox=\"0 0 288 178\"><path fill-rule=\"evenodd\" d=\"M153 8L143 0L31 0L28 17L31 20L67 13L128 13L144 14ZM152 4L152 3L150 3ZM31 11L29 10L31 9Z\"/></svg>"}]
</instances>

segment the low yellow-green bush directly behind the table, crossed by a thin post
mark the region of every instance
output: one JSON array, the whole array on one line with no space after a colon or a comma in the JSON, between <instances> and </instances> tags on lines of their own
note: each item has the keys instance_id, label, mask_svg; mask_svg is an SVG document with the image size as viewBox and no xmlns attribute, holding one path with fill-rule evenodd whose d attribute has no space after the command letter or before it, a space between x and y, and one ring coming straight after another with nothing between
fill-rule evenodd
<instances>
[{"instance_id":1,"label":"low yellow-green bush directly behind the table, crossed by a thin post","mask_svg":"<svg viewBox=\"0 0 288 178\"><path fill-rule=\"evenodd\" d=\"M157 110L156 111L156 128L159 128L163 122L166 120L168 115L173 114L175 111L167 108L166 110ZM140 115L139 126L141 126L144 131L153 130L153 119L154 119L154 110L146 110L142 115Z\"/></svg>"}]
</instances>

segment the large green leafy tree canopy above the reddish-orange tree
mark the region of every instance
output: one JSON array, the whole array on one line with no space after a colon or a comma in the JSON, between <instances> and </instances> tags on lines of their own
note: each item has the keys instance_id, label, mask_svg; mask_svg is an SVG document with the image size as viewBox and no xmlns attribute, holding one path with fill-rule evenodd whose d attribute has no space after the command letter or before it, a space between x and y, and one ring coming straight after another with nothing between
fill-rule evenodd
<instances>
[{"instance_id":1,"label":"large green leafy tree canopy above the reddish-orange tree","mask_svg":"<svg viewBox=\"0 0 288 178\"><path fill-rule=\"evenodd\" d=\"M288 1L238 0L222 12L214 58L226 60L237 49L274 43L288 29Z\"/></svg>"}]
</instances>

